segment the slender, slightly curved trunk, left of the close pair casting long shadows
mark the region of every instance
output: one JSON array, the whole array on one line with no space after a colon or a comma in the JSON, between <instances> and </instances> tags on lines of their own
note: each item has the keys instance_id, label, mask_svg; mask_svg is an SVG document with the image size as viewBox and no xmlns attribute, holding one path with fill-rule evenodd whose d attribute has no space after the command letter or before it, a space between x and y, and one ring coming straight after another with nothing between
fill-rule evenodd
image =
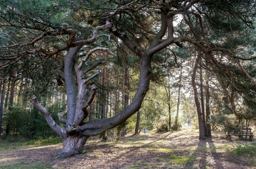
<instances>
[{"instance_id":1,"label":"slender, slightly curved trunk, left of the close pair casting long shadows","mask_svg":"<svg viewBox=\"0 0 256 169\"><path fill-rule=\"evenodd\" d=\"M201 106L198 99L198 91L196 88L196 70L198 68L198 59L196 59L195 66L193 68L193 74L192 74L192 86L194 91L194 98L196 103L196 110L198 113L198 124L199 124L199 139L206 139L206 126L203 124L203 115L201 112Z\"/></svg>"}]
</instances>

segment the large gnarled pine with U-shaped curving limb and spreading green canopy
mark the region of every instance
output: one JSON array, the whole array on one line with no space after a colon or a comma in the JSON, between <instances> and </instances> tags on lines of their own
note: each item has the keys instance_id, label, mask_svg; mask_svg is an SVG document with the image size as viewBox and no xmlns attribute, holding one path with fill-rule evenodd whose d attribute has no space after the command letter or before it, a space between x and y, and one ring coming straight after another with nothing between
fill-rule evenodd
<instances>
[{"instance_id":1,"label":"large gnarled pine with U-shaped curving limb and spreading green canopy","mask_svg":"<svg viewBox=\"0 0 256 169\"><path fill-rule=\"evenodd\" d=\"M64 71L55 71L64 79L67 92L67 110L58 114L64 127L53 120L51 112L38 102L36 95L31 101L51 129L63 139L63 149L58 157L73 156L82 152L89 136L102 134L122 124L139 110L149 90L151 62L156 52L171 45L181 48L193 45L210 59L215 70L220 62L215 58L218 52L235 58L229 49L215 46L209 40L207 30L213 27L203 23L214 21L209 17L210 13L222 11L227 17L233 16L252 26L249 21L252 14L240 11L238 6L254 5L255 1L209 0L3 1L0 4L0 26L5 36L1 40L1 65L4 68L24 57L65 58ZM95 68L102 61L92 66L85 66L85 63L95 51L105 50L113 54L102 46L105 43L99 42L106 35L112 35L110 39L122 42L137 55L139 85L132 102L117 115L85 122L90 113L87 107L96 92L95 85L89 82L99 74ZM95 45L98 47L87 50ZM58 61L62 63L60 59ZM203 132L199 138L204 138Z\"/></svg>"}]
</instances>

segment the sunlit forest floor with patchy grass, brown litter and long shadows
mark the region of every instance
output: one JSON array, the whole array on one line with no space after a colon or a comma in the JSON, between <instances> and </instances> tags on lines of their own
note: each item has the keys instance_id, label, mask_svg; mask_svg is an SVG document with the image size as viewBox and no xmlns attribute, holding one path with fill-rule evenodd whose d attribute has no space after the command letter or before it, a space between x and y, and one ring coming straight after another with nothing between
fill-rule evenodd
<instances>
[{"instance_id":1,"label":"sunlit forest floor with patchy grass, brown litter and long shadows","mask_svg":"<svg viewBox=\"0 0 256 169\"><path fill-rule=\"evenodd\" d=\"M235 139L235 138L234 138ZM3 145L0 140L0 168L256 168L256 157L238 156L235 148L255 147L255 142L228 141L223 132L198 140L198 130L149 132L102 143L90 139L78 156L55 159L61 144L50 146ZM237 149L239 150L239 149Z\"/></svg>"}]
</instances>

